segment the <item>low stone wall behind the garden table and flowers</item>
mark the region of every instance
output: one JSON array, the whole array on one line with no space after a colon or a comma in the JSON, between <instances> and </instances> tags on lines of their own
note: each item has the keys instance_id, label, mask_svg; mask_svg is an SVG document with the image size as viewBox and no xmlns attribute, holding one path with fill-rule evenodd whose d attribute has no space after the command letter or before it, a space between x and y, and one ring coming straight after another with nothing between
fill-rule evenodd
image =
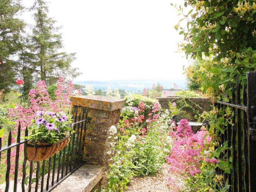
<instances>
[{"instance_id":1,"label":"low stone wall behind the garden table and flowers","mask_svg":"<svg viewBox=\"0 0 256 192\"><path fill-rule=\"evenodd\" d=\"M177 99L182 98L181 96L175 96L175 97L158 97L158 101L161 104L162 108L168 109L168 101L171 102L177 102ZM212 103L210 98L199 98L199 97L193 97L189 98L192 102L197 103L197 105L200 106L200 108L193 108L193 109L185 109L187 112L191 113L190 121L194 121L193 118L196 115L196 112L202 113L204 111L210 111L212 109Z\"/></svg>"}]
</instances>

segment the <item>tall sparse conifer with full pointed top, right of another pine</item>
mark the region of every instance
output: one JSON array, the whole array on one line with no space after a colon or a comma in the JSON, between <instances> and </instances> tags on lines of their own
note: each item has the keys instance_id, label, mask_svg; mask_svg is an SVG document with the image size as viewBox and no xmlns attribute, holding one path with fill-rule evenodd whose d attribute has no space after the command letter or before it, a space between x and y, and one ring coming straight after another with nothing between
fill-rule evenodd
<instances>
[{"instance_id":1,"label":"tall sparse conifer with full pointed top, right of another pine","mask_svg":"<svg viewBox=\"0 0 256 192\"><path fill-rule=\"evenodd\" d=\"M60 76L75 78L80 74L70 65L75 60L75 53L58 52L63 48L61 34L57 34L60 27L56 27L56 21L48 17L47 3L35 0L31 10L35 12L35 26L29 41L32 45L30 50L36 57L33 65L38 78L48 84L55 83Z\"/></svg>"}]
</instances>

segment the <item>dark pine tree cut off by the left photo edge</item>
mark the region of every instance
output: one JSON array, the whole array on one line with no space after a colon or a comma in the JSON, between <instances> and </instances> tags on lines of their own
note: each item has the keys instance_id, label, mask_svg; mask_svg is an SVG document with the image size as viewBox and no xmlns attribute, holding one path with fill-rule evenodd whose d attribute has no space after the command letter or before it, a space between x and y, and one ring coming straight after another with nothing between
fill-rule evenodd
<instances>
[{"instance_id":1,"label":"dark pine tree cut off by the left photo edge","mask_svg":"<svg viewBox=\"0 0 256 192\"><path fill-rule=\"evenodd\" d=\"M23 11L20 0L0 1L0 90L9 89L18 71L17 54L22 50L23 20L18 19Z\"/></svg>"}]
</instances>

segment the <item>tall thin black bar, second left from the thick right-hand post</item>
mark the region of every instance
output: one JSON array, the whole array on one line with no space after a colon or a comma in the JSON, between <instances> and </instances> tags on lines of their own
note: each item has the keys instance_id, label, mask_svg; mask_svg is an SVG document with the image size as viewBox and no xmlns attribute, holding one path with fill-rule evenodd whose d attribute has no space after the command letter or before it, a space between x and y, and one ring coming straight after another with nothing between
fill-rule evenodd
<instances>
[{"instance_id":1,"label":"tall thin black bar, second left from the thick right-hand post","mask_svg":"<svg viewBox=\"0 0 256 192\"><path fill-rule=\"evenodd\" d=\"M237 104L241 104L240 83L237 75ZM238 192L242 192L242 132L241 132L241 109L237 108L237 163L238 163Z\"/></svg>"}]
</instances>

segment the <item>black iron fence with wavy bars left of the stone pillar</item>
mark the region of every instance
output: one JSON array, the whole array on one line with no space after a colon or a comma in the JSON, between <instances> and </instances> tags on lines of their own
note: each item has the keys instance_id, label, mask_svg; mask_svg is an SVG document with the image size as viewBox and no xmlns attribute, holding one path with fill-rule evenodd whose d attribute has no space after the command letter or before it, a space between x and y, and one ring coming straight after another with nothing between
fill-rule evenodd
<instances>
[{"instance_id":1,"label":"black iron fence with wavy bars left of the stone pillar","mask_svg":"<svg viewBox=\"0 0 256 192\"><path fill-rule=\"evenodd\" d=\"M16 142L12 143L12 132L8 135L7 146L2 146L2 138L0 138L0 162L1 154L6 153L6 165L7 169L5 172L5 192L8 191L41 191L49 192L54 187L60 184L70 174L75 172L83 162L83 151L86 139L86 125L90 120L85 108L78 109L74 107L74 124L73 128L75 133L71 135L69 144L64 147L61 151L54 154L53 157L48 158L44 161L27 161L26 156L26 143L27 139L20 140L20 124L18 127L18 133ZM78 115L78 110L79 115ZM1 126L0 126L1 128ZM28 129L25 130L25 136L28 135ZM20 164L20 146L24 145L24 159L22 160L22 177L19 177L18 170ZM16 149L15 163L14 163L14 182L13 189L10 187L10 170L11 170L11 151ZM13 162L12 162L13 163ZM36 167L34 166L36 163ZM2 163L3 164L3 163ZM0 165L3 166L3 165ZM29 172L29 174L27 174ZM35 174L34 174L35 173Z\"/></svg>"}]
</instances>

